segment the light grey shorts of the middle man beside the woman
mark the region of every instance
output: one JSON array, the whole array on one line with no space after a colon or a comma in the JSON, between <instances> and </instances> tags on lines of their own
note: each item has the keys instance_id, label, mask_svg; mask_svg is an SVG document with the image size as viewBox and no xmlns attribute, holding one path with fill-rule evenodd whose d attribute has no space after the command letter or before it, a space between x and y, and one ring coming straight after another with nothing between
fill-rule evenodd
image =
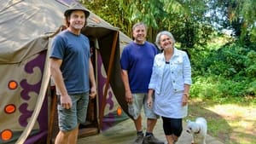
<instances>
[{"instance_id":1,"label":"light grey shorts of the middle man beside the woman","mask_svg":"<svg viewBox=\"0 0 256 144\"><path fill-rule=\"evenodd\" d=\"M147 105L147 93L137 93L137 94L132 94L132 103L128 104L128 111L129 114L134 119L137 119L139 115L142 112L142 109L144 109L144 114L146 118L160 118L157 114L154 113L153 108L150 109Z\"/></svg>"}]
</instances>

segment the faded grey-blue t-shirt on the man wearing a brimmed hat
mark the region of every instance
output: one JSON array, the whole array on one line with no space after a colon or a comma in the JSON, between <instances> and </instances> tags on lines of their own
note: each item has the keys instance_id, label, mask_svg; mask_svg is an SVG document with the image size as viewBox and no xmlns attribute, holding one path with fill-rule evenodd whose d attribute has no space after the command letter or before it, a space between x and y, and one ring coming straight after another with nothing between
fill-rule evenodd
<instances>
[{"instance_id":1,"label":"faded grey-blue t-shirt on the man wearing a brimmed hat","mask_svg":"<svg viewBox=\"0 0 256 144\"><path fill-rule=\"evenodd\" d=\"M67 30L53 40L51 58L61 59L61 72L68 94L88 92L90 45L83 34L75 35Z\"/></svg>"}]
</instances>

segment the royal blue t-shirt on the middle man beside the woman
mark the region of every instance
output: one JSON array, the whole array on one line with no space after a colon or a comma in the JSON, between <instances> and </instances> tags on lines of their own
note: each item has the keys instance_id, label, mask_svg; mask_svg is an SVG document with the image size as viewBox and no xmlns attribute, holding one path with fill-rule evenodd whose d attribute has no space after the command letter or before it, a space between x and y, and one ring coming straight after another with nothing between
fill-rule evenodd
<instances>
[{"instance_id":1,"label":"royal blue t-shirt on the middle man beside the woman","mask_svg":"<svg viewBox=\"0 0 256 144\"><path fill-rule=\"evenodd\" d=\"M121 55L121 68L128 72L131 93L148 93L154 55L157 49L153 43L134 42L125 46Z\"/></svg>"}]
</instances>

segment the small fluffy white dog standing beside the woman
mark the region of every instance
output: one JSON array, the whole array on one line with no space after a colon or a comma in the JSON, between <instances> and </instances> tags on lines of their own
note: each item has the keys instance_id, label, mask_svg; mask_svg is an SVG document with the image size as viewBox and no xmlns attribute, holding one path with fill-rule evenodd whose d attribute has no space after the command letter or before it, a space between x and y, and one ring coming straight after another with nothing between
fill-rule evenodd
<instances>
[{"instance_id":1,"label":"small fluffy white dog standing beside the woman","mask_svg":"<svg viewBox=\"0 0 256 144\"><path fill-rule=\"evenodd\" d=\"M196 118L195 122L187 121L187 132L192 135L192 144L206 144L207 138L207 120L205 118Z\"/></svg>"}]
</instances>

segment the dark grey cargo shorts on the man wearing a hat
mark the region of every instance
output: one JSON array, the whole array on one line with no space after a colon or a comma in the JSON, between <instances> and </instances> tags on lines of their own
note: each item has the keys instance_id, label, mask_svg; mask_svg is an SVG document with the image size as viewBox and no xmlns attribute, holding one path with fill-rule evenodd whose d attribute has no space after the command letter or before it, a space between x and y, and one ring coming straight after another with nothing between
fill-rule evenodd
<instances>
[{"instance_id":1,"label":"dark grey cargo shorts on the man wearing a hat","mask_svg":"<svg viewBox=\"0 0 256 144\"><path fill-rule=\"evenodd\" d=\"M75 129L78 124L84 123L89 103L89 92L70 95L73 106L70 109L61 107L60 95L58 95L58 117L61 131Z\"/></svg>"}]
</instances>

